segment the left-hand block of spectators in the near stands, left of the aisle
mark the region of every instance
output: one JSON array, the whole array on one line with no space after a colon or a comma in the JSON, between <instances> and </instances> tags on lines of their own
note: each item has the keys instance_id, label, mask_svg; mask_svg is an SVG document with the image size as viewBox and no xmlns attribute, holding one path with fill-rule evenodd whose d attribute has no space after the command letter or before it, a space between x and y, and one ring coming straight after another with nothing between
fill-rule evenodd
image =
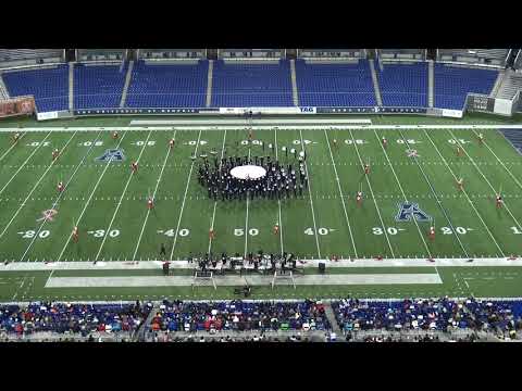
<instances>
[{"instance_id":1,"label":"left-hand block of spectators in the near stands, left of the aisle","mask_svg":"<svg viewBox=\"0 0 522 391\"><path fill-rule=\"evenodd\" d=\"M36 302L0 305L0 331L28 336L37 332L78 335L134 332L145 321L151 303L71 304Z\"/></svg>"}]
</instances>

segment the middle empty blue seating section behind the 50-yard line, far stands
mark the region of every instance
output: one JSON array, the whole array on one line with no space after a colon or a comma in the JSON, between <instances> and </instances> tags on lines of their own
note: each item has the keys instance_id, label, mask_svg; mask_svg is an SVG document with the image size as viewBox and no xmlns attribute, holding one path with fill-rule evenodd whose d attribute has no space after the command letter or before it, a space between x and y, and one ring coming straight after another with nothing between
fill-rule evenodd
<instances>
[{"instance_id":1,"label":"middle empty blue seating section behind the 50-yard line, far stands","mask_svg":"<svg viewBox=\"0 0 522 391\"><path fill-rule=\"evenodd\" d=\"M214 63L212 105L291 106L291 79L288 61L266 64Z\"/></svg>"}]
</instances>

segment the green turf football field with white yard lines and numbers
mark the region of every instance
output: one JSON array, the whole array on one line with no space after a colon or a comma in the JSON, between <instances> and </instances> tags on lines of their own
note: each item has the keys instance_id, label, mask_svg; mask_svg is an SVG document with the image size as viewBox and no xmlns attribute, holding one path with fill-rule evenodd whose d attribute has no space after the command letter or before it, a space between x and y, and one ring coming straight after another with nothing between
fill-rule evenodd
<instances>
[{"instance_id":1,"label":"green turf football field with white yard lines and numbers","mask_svg":"<svg viewBox=\"0 0 522 391\"><path fill-rule=\"evenodd\" d=\"M396 121L426 123L426 118L402 119ZM127 126L128 122L128 118L83 118L38 126ZM432 119L431 123L435 126L443 122ZM12 127L13 123L1 126ZM116 140L107 130L42 130L24 133L15 146L12 133L0 134L0 262L148 262L159 258L161 243L174 261L186 260L190 253L226 251L243 255L262 249L274 253L288 251L313 260L333 255L352 260L377 256L402 260L401 273L423 273L408 267L408 258L522 255L522 156L496 129L271 129L254 131L252 143L246 141L248 135L243 128L128 130L121 131ZM477 141L478 131L485 137L483 146ZM383 137L388 140L386 149L381 142ZM172 150L167 148L171 138L176 140ZM275 148L263 151L261 141ZM457 155L457 146L463 148L462 156ZM284 164L295 164L295 157L286 154L283 147L307 152L310 187L302 198L281 202L260 199L214 202L197 182L198 162L190 159L192 154L210 155L213 149L219 155L271 154ZM61 155L51 163L54 148L61 150ZM110 149L122 151L124 160L99 161ZM408 156L407 150L415 150L417 157ZM132 174L129 164L136 160L139 169ZM362 168L366 162L371 165L368 176ZM456 178L460 177L464 179L462 192L456 186ZM57 191L59 180L65 184L61 195ZM362 206L355 200L359 189L364 198ZM495 205L495 193L499 190L505 200L502 209ZM149 193L154 198L151 212L147 209ZM398 222L396 217L405 202L418 204L428 220ZM52 219L42 218L42 213L49 210L55 211ZM281 230L274 235L273 226L277 222ZM74 224L79 227L78 243L71 240ZM430 240L427 232L433 225L436 238ZM209 239L211 227L216 234L213 241ZM433 272L430 265L415 269ZM517 266L438 267L435 273L440 275L443 283L435 288L417 285L298 287L276 291L260 288L257 294L513 297L522 293L521 272ZM54 277L89 276L89 273L159 275L161 270L60 270ZM381 267L378 273L397 272L383 272ZM47 270L0 270L0 300L231 294L225 288L216 291L208 288L197 291L189 288L50 289L45 288L49 274Z\"/></svg>"}]
</instances>

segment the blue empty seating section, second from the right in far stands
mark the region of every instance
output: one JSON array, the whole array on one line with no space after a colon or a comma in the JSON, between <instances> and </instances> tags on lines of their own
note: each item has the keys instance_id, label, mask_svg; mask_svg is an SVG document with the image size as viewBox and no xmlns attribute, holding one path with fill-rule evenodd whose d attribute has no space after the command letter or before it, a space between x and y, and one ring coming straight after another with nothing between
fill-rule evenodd
<instances>
[{"instance_id":1,"label":"blue empty seating section, second from the right in far stands","mask_svg":"<svg viewBox=\"0 0 522 391\"><path fill-rule=\"evenodd\" d=\"M385 106L427 106L427 63L375 66Z\"/></svg>"}]
</instances>

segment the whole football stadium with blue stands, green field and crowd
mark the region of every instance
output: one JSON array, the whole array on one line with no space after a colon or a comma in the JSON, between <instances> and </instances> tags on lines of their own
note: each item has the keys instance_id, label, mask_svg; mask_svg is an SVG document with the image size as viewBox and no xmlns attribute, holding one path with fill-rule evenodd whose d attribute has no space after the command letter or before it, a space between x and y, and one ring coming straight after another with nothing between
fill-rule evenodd
<instances>
[{"instance_id":1,"label":"whole football stadium with blue stands, green field and crowd","mask_svg":"<svg viewBox=\"0 0 522 391\"><path fill-rule=\"evenodd\" d=\"M521 49L0 49L1 341L517 341Z\"/></svg>"}]
</instances>

